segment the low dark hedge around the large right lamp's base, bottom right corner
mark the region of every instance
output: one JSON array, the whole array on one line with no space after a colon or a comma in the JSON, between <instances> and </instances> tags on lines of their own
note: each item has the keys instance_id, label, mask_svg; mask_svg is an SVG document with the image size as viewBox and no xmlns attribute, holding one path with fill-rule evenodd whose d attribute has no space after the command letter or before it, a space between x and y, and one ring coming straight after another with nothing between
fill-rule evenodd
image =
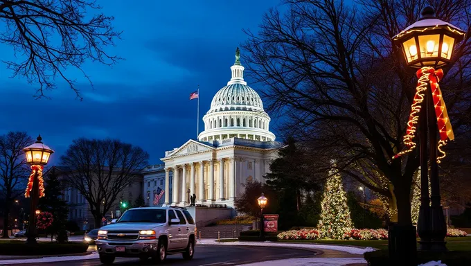
<instances>
[{"instance_id":1,"label":"low dark hedge around the large right lamp's base, bottom right corner","mask_svg":"<svg viewBox=\"0 0 471 266\"><path fill-rule=\"evenodd\" d=\"M416 265L428 263L429 261L441 260L441 263L447 266L462 266L471 265L471 252L470 251L447 251L447 252L434 252L434 251L418 251ZM389 260L389 251L378 250L366 252L364 254L365 260L369 266L393 266L396 265L393 261Z\"/></svg>"}]
</instances>

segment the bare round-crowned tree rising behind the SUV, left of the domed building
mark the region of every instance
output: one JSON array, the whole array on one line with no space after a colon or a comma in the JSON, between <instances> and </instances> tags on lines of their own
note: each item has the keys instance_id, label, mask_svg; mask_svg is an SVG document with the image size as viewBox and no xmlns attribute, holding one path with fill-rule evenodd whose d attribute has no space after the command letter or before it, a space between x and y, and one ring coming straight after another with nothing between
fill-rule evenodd
<instances>
[{"instance_id":1,"label":"bare round-crowned tree rising behind the SUV, left of the domed building","mask_svg":"<svg viewBox=\"0 0 471 266\"><path fill-rule=\"evenodd\" d=\"M95 218L95 227L124 188L148 166L149 154L116 139L75 139L60 164L72 188L82 194Z\"/></svg>"}]
</instances>

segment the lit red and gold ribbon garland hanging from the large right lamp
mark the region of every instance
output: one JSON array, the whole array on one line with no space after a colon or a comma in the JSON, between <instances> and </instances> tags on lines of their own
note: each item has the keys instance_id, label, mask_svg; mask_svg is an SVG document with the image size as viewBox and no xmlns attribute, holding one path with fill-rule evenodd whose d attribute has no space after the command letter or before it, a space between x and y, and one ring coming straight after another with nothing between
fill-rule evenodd
<instances>
[{"instance_id":1,"label":"lit red and gold ribbon garland hanging from the large right lamp","mask_svg":"<svg viewBox=\"0 0 471 266\"><path fill-rule=\"evenodd\" d=\"M417 123L419 119L420 110L422 109L423 100L425 98L425 91L427 91L427 85L430 84L432 89L432 98L434 100L436 121L438 124L438 132L440 133L440 141L438 141L438 157L437 163L445 158L446 154L441 150L441 147L447 143L447 141L454 140L454 134L450 118L448 118L447 107L443 101L442 93L438 82L443 78L443 70L435 70L433 67L423 67L417 71L417 87L416 95L414 96L414 103L411 105L411 114L409 115L409 121L407 122L407 131L403 138L404 144L407 146L407 150L403 150L396 154L393 159L400 157L403 154L411 152L416 148L414 142L414 136L417 131Z\"/></svg>"}]
</instances>

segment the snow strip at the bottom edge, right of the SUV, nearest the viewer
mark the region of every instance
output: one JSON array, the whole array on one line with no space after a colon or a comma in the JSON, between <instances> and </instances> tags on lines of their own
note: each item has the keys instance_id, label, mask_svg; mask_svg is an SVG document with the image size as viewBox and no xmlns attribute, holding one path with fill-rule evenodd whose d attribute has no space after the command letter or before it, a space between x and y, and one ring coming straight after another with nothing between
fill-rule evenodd
<instances>
[{"instance_id":1,"label":"snow strip at the bottom edge, right of the SUV, nearest the viewer","mask_svg":"<svg viewBox=\"0 0 471 266\"><path fill-rule=\"evenodd\" d=\"M352 263L366 263L363 258L290 258L288 260L269 260L260 263L243 264L244 266L341 266Z\"/></svg>"}]
</instances>

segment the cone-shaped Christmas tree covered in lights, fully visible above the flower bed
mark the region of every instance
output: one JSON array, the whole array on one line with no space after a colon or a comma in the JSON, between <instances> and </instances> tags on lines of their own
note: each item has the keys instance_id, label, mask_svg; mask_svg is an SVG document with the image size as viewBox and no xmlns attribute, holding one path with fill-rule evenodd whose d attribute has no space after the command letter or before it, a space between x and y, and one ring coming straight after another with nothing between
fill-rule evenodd
<instances>
[{"instance_id":1,"label":"cone-shaped Christmas tree covered in lights, fully visible above the flower bed","mask_svg":"<svg viewBox=\"0 0 471 266\"><path fill-rule=\"evenodd\" d=\"M335 161L332 161L332 170L329 171L321 202L321 220L318 227L323 238L343 238L344 233L353 227L346 192L336 167Z\"/></svg>"}]
</instances>

